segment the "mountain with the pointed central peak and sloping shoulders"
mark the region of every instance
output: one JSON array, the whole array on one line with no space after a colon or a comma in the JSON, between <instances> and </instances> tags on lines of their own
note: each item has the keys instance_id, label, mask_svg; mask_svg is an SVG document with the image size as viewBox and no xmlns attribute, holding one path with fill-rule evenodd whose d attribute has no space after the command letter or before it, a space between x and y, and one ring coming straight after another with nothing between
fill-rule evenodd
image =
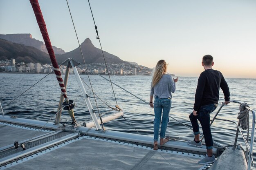
<instances>
[{"instance_id":1,"label":"mountain with the pointed central peak and sloping shoulders","mask_svg":"<svg viewBox=\"0 0 256 170\"><path fill-rule=\"evenodd\" d=\"M104 63L104 58L101 52L101 49L96 48L92 41L89 38L86 38L85 41L81 44L81 49L83 52L83 57L85 58L85 63ZM113 63L113 64L120 64L120 63L126 63L129 64L129 62L126 62L124 60L121 60L119 57L112 55L106 51L103 51L104 57L106 59L107 63ZM83 57L81 55L80 48L76 48L73 51L70 51L68 53L57 55L56 59L58 63L63 62L67 58L74 58L84 64Z\"/></svg>"}]
</instances>

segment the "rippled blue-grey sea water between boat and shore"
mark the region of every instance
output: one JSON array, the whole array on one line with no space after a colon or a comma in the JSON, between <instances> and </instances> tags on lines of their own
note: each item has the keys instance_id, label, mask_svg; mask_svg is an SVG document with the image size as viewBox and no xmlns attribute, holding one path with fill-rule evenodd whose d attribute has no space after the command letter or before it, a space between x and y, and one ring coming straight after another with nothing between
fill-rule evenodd
<instances>
[{"instance_id":1,"label":"rippled blue-grey sea water between boat and shore","mask_svg":"<svg viewBox=\"0 0 256 170\"><path fill-rule=\"evenodd\" d=\"M4 110L4 114L54 122L61 90L54 74L45 76L46 74L0 73L0 102ZM126 91L129 91L145 102L130 93L127 93L115 84L112 84L111 86L110 82L106 80L109 79L108 76L104 76L106 79L99 75L89 75L89 77L90 81L88 79L88 75L81 75L81 78L87 84L84 84L85 90L90 96L92 107L97 111L98 117L99 113L97 106L100 113L108 111L108 106L115 107L117 104L122 110L124 110L125 119L123 117L119 117L118 119L104 123L105 128L108 130L139 133L153 137L154 111L150 108L148 103L145 103L150 100L151 76L110 76L113 83L124 88ZM38 82L40 79L42 80ZM193 139L193 131L180 124L178 121L191 127L189 114L193 111L197 80L198 77L179 77L179 81L176 84L176 91L173 94L172 108L170 112L171 117L166 131L167 136ZM226 81L229 84L231 100L246 102L250 108L256 110L256 79L226 78ZM30 88L31 86L33 87ZM94 93L106 104L101 102L97 96L96 104L93 93L88 86L90 88L92 86ZM26 91L27 89L29 90ZM19 96L21 93L24 94ZM81 124L84 121L91 121L88 108L85 105L76 77L73 74L69 76L67 96L76 103L76 107L74 108L76 120ZM18 98L11 102L16 97ZM9 102L11 103L9 104ZM219 102L224 102L224 95L221 90ZM220 105L221 104L219 104L219 106ZM215 112L211 113L211 119L216 114L218 108ZM239 104L230 103L222 108L218 114L218 118L238 122L238 112ZM102 116L104 115L105 114L103 113ZM178 121L175 121L173 118ZM70 116L66 111L62 112L61 121L71 121ZM249 124L252 126L252 112L250 112ZM215 120L211 126L211 131L213 134L213 140L225 146L234 142L236 136L236 125L227 121ZM247 130L243 130L243 132L245 135L247 134ZM240 135L238 142L240 142L245 148L245 143ZM254 142L254 152L256 152L256 142ZM254 160L256 160L256 153L254 153L253 157Z\"/></svg>"}]
</instances>

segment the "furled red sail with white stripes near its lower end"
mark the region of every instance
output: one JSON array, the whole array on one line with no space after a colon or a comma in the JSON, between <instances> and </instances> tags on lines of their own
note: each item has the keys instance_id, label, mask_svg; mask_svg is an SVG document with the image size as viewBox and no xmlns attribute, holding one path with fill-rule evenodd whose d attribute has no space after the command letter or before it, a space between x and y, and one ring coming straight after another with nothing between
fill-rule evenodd
<instances>
[{"instance_id":1,"label":"furled red sail with white stripes near its lower end","mask_svg":"<svg viewBox=\"0 0 256 170\"><path fill-rule=\"evenodd\" d=\"M64 86L63 79L61 77L61 70L58 67L58 63L56 61L55 54L54 54L54 51L52 49L52 44L51 44L47 29L46 29L45 20L43 18L43 14L42 14L42 11L41 11L40 6L39 6L39 2L38 2L38 0L30 0L30 3L31 3L32 8L34 10L34 13L35 13L35 16L36 16L36 21L38 23L40 31L43 35L43 39L45 41L45 46L46 46L47 51L49 53L49 56L50 56L50 59L51 59L51 62L52 62L52 66L54 68L54 73L55 73L56 78L58 80L58 83L61 87L62 94L65 98L67 98L66 89L65 89L65 86Z\"/></svg>"}]
</instances>

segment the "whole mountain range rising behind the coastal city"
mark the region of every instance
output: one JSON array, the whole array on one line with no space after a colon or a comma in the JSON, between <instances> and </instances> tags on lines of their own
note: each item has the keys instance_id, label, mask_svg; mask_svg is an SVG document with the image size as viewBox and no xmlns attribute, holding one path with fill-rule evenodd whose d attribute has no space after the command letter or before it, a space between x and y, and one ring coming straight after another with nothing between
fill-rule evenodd
<instances>
[{"instance_id":1,"label":"whole mountain range rising behind the coastal city","mask_svg":"<svg viewBox=\"0 0 256 170\"><path fill-rule=\"evenodd\" d=\"M34 46L39 47L43 44L43 42L40 42L39 40L32 39L31 34L0 34L0 37L1 36L9 40L7 41L4 39L0 39L0 60L15 58L16 62L40 62L42 64L50 63L49 55L47 53L44 53L42 50L30 46L31 44L33 44ZM16 41L20 43L14 43L11 41ZM85 41L81 44L81 49L86 64L105 62L101 49L96 48L89 38L85 39ZM121 60L116 55L112 55L106 51L103 51L103 54L107 63L137 65L137 63L134 62L126 62L124 60ZM65 61L67 58L74 58L75 60L78 60L79 62L84 64L79 47L77 47L73 51L64 54L55 53L55 55L58 64Z\"/></svg>"}]
</instances>

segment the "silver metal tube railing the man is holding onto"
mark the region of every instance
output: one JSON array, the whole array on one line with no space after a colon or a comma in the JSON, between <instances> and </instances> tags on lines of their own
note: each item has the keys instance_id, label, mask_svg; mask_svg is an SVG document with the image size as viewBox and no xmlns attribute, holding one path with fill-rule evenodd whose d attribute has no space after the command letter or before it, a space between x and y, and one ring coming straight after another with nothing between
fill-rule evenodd
<instances>
[{"instance_id":1,"label":"silver metal tube railing the man is holding onto","mask_svg":"<svg viewBox=\"0 0 256 170\"><path fill-rule=\"evenodd\" d=\"M233 102L233 103L238 103L238 104L242 104L241 102L237 102L237 101L229 101L229 102ZM213 124L213 121L215 119L217 120L222 120L222 121L229 121L231 123L236 124L237 126L237 130L236 130L236 138L235 138L235 142L234 142L234 150L236 149L236 144L237 144L237 139L238 139L238 133L240 132L241 136L243 137L243 140L245 142L245 145L247 147L247 150L249 150L249 154L245 155L246 157L248 156L248 167L247 170L251 169L252 163L253 163L253 158L252 158L252 153L253 153L253 144L254 144L254 131L255 131L255 124L256 124L256 116L255 116L255 111L252 110L249 107L245 107L247 110L249 110L249 112L252 112L252 131L251 131L251 139L250 139L250 144L248 144L247 140L245 139L245 135L243 134L242 129L240 128L240 120L238 121L238 124L235 121L231 121L231 120L227 120L227 119L220 119L220 118L216 118L218 113L220 113L220 110L222 109L222 107L225 105L225 103L223 102L222 105L220 106L219 110L217 111L216 115L213 117L211 124ZM210 124L210 126L211 126ZM248 128L249 130L249 128ZM203 137L202 137L203 139ZM201 139L201 140L202 140Z\"/></svg>"}]
</instances>

